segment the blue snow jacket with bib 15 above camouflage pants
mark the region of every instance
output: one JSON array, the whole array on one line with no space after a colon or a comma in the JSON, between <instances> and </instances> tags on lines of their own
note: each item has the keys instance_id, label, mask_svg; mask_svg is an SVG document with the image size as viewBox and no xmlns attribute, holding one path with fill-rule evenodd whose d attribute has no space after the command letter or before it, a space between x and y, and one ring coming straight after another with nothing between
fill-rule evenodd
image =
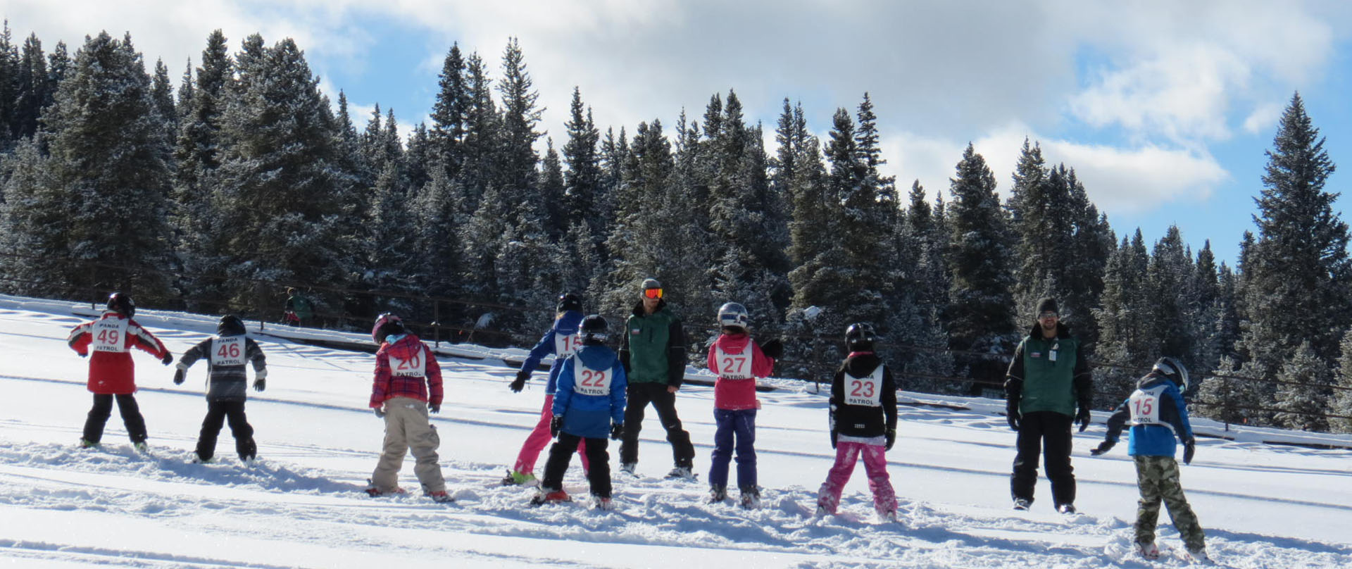
<instances>
[{"instance_id":1,"label":"blue snow jacket with bib 15 above camouflage pants","mask_svg":"<svg viewBox=\"0 0 1352 569\"><path fill-rule=\"evenodd\" d=\"M1126 423L1132 423L1126 454L1133 457L1172 457L1178 442L1192 441L1192 424L1178 384L1151 373L1136 384L1113 416L1107 419L1107 441L1117 442Z\"/></svg>"}]
</instances>

